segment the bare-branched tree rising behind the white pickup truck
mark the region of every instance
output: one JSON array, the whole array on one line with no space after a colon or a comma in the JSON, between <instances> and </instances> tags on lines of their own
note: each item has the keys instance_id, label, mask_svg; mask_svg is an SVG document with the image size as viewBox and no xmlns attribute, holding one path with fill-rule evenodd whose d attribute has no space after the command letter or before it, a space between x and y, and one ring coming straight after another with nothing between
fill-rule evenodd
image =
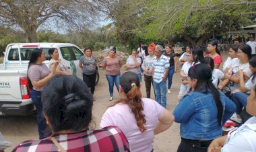
<instances>
[{"instance_id":1,"label":"bare-branched tree rising behind the white pickup truck","mask_svg":"<svg viewBox=\"0 0 256 152\"><path fill-rule=\"evenodd\" d=\"M103 2L108 1L0 0L0 26L22 29L28 42L38 42L36 32L41 26L81 28L93 21Z\"/></svg>"}]
</instances>

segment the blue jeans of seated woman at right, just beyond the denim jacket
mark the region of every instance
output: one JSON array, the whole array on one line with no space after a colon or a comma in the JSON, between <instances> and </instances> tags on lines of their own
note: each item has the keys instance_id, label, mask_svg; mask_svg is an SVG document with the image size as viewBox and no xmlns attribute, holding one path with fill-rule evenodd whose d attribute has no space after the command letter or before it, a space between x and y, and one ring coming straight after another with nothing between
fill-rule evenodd
<instances>
[{"instance_id":1,"label":"blue jeans of seated woman at right, just beyond the denim jacket","mask_svg":"<svg viewBox=\"0 0 256 152\"><path fill-rule=\"evenodd\" d=\"M247 97L249 95L243 92L232 93L230 99L236 105L236 114L241 114L243 107L247 106Z\"/></svg>"}]
</instances>

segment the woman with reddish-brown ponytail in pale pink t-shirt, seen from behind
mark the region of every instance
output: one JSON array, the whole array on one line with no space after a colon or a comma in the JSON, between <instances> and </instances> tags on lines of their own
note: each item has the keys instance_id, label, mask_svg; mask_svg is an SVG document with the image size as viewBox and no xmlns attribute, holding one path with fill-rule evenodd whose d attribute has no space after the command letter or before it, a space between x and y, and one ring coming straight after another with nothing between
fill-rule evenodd
<instances>
[{"instance_id":1,"label":"woman with reddish-brown ponytail in pale pink t-shirt, seen from behind","mask_svg":"<svg viewBox=\"0 0 256 152\"><path fill-rule=\"evenodd\" d=\"M121 100L106 110L100 127L119 127L131 151L152 151L154 135L172 125L172 115L156 101L141 98L139 77L133 72L122 75L119 93Z\"/></svg>"}]
</instances>

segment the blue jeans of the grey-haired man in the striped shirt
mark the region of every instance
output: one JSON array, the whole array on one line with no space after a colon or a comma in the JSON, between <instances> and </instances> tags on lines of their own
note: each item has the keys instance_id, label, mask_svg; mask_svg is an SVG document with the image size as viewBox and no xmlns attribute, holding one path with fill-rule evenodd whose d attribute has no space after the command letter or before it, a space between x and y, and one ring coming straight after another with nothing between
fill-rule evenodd
<instances>
[{"instance_id":1,"label":"blue jeans of the grey-haired man in the striped shirt","mask_svg":"<svg viewBox=\"0 0 256 152\"><path fill-rule=\"evenodd\" d=\"M156 102L166 108L166 80L156 83L153 81L156 93Z\"/></svg>"}]
</instances>

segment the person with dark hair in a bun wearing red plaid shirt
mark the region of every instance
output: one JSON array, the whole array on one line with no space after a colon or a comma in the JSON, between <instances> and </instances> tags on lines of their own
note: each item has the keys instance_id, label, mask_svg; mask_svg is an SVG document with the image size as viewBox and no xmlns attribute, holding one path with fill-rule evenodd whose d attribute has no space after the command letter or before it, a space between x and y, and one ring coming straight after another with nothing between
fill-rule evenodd
<instances>
[{"instance_id":1,"label":"person with dark hair in a bun wearing red plaid shirt","mask_svg":"<svg viewBox=\"0 0 256 152\"><path fill-rule=\"evenodd\" d=\"M130 151L125 135L117 126L89 128L92 105L92 93L81 79L56 75L42 92L42 114L51 135L38 141L24 141L13 151Z\"/></svg>"}]
</instances>

